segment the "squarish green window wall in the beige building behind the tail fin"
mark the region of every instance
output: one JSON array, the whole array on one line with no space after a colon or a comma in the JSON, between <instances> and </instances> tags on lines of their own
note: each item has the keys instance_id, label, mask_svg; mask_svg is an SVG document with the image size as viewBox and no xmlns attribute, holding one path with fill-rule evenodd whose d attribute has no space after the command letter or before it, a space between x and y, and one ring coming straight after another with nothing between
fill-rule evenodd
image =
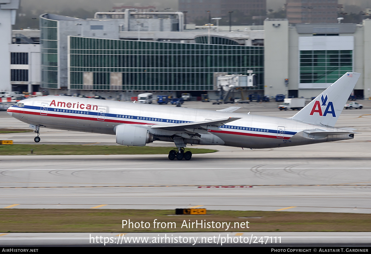
<instances>
[{"instance_id":1,"label":"squarish green window wall in the beige building behind the tail fin","mask_svg":"<svg viewBox=\"0 0 371 254\"><path fill-rule=\"evenodd\" d=\"M300 51L300 83L334 83L352 70L352 50Z\"/></svg>"}]
</instances>

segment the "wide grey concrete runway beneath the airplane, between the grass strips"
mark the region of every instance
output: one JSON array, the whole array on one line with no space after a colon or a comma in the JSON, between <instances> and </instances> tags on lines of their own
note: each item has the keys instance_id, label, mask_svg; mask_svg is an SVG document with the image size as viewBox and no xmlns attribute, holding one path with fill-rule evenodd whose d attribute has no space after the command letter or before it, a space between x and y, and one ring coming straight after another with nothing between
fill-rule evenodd
<instances>
[{"instance_id":1,"label":"wide grey concrete runway beneath the airplane, between the grass strips","mask_svg":"<svg viewBox=\"0 0 371 254\"><path fill-rule=\"evenodd\" d=\"M262 109L259 114L295 113ZM0 207L201 205L220 210L371 213L370 118L369 109L343 111L336 127L357 128L361 134L353 140L263 150L217 146L210 148L219 152L194 154L191 161L169 161L167 155L1 156ZM27 126L1 116L1 128ZM35 134L0 136L28 143ZM115 144L114 136L91 133L43 129L40 137L40 144Z\"/></svg>"}]
</instances>

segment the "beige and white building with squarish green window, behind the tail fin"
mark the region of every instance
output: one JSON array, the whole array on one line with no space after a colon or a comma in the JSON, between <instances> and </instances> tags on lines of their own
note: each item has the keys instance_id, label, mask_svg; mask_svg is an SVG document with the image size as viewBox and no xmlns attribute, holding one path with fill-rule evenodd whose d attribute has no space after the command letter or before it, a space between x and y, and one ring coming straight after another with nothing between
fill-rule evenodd
<instances>
[{"instance_id":1,"label":"beige and white building with squarish green window, behind the tail fin","mask_svg":"<svg viewBox=\"0 0 371 254\"><path fill-rule=\"evenodd\" d=\"M296 26L285 19L265 20L264 31L265 94L310 98L355 71L361 77L354 95L371 96L370 19L362 24Z\"/></svg>"}]
</instances>

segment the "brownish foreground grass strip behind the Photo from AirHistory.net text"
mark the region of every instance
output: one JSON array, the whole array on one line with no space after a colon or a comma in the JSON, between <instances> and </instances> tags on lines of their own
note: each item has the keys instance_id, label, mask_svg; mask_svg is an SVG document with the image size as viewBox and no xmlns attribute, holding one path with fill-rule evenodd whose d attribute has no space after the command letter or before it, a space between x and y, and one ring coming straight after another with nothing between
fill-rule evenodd
<instances>
[{"instance_id":1,"label":"brownish foreground grass strip behind the Photo from AirHistory.net text","mask_svg":"<svg viewBox=\"0 0 371 254\"><path fill-rule=\"evenodd\" d=\"M92 205L93 206L93 205ZM208 215L174 215L174 210L0 209L2 233L14 232L368 232L370 214L283 211L207 211ZM240 218L243 217L243 218ZM122 220L148 222L149 228L122 227ZM154 228L154 220L159 222ZM229 223L223 228L188 228L184 223ZM249 228L246 228L246 221ZM173 223L173 228L170 227ZM174 224L175 223L175 224ZM236 224L235 224L236 223ZM235 228L245 223L243 228ZM139 225L137 224L137 225ZM166 225L165 228L161 228ZM174 228L175 225L175 228ZM183 225L183 227L182 227ZM224 224L225 225L225 224ZM148 224L147 224L148 226ZM206 224L207 226L207 224Z\"/></svg>"}]
</instances>

